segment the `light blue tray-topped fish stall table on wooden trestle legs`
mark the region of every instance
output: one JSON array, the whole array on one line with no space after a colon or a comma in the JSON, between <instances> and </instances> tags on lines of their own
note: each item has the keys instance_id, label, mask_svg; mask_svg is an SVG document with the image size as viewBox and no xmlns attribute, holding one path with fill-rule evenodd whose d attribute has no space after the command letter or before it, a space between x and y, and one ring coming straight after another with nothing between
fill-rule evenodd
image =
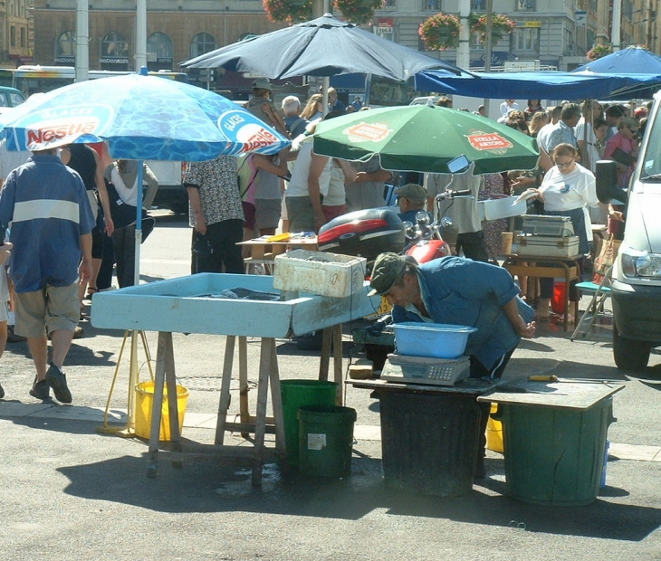
<instances>
[{"instance_id":1,"label":"light blue tray-topped fish stall table on wooden trestle legs","mask_svg":"<svg viewBox=\"0 0 661 561\"><path fill-rule=\"evenodd\" d=\"M241 430L242 433L254 432L252 480L255 485L258 485L262 480L269 384L271 385L276 450L286 459L275 338L289 338L323 328L334 328L337 331L343 321L359 319L368 315L378 305L378 298L370 299L367 296L368 288L366 283L359 292L352 294L349 298L341 299L301 293L292 300L235 300L218 298L217 295L224 290L237 289L238 292L241 290L256 291L257 294L252 294L251 298L261 297L259 293L271 293L279 299L281 294L278 290L273 289L273 277L270 276L201 273L95 295L91 312L91 322L94 327L158 331L156 381L148 448L148 475L156 476L158 467L158 429L166 386L171 450L172 452L181 451L177 424L173 332L227 336L216 424L216 444L223 443L225 429L230 427ZM249 417L247 414L246 337L261 338L257 410L254 417ZM240 348L242 423L233 425L226 423L226 415L229 408L229 388L236 338L239 338ZM339 347L341 349L341 345ZM341 360L341 350L339 357ZM335 355L335 358L337 362L338 354ZM324 361L327 373L328 353L325 357L321 357L321 377L323 376ZM337 372L340 372L340 368L336 365ZM339 381L341 381L341 375ZM218 452L226 455L244 455L244 452L236 450L237 448L243 447L226 446L221 447Z\"/></svg>"}]
</instances>

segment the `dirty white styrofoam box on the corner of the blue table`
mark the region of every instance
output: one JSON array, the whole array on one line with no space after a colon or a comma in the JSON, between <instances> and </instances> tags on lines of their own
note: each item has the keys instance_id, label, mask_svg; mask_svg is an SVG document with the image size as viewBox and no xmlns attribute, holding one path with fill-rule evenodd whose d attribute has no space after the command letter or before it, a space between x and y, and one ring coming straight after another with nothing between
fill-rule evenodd
<instances>
[{"instance_id":1,"label":"dirty white styrofoam box on the corner of the blue table","mask_svg":"<svg viewBox=\"0 0 661 561\"><path fill-rule=\"evenodd\" d=\"M366 270L363 257L292 250L276 255L273 288L346 298L362 289Z\"/></svg>"}]
</instances>

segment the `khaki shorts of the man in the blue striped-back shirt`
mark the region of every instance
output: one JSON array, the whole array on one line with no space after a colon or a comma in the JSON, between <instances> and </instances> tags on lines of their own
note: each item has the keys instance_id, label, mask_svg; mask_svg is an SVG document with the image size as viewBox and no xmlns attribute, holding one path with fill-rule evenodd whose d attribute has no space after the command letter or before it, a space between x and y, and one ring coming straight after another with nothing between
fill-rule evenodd
<instances>
[{"instance_id":1,"label":"khaki shorts of the man in the blue striped-back shirt","mask_svg":"<svg viewBox=\"0 0 661 561\"><path fill-rule=\"evenodd\" d=\"M27 338L42 338L58 329L72 331L81 319L78 283L46 285L34 292L16 292L14 332Z\"/></svg>"}]
</instances>

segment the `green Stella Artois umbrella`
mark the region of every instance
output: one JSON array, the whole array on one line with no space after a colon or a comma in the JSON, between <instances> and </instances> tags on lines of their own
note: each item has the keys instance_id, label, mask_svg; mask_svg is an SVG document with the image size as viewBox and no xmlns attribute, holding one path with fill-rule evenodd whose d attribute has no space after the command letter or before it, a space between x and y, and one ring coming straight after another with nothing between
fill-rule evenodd
<instances>
[{"instance_id":1,"label":"green Stella Artois umbrella","mask_svg":"<svg viewBox=\"0 0 661 561\"><path fill-rule=\"evenodd\" d=\"M447 162L464 155L474 174L532 169L537 142L492 119L445 107L410 105L369 109L321 121L315 153L347 160L380 157L395 171L449 173Z\"/></svg>"}]
</instances>

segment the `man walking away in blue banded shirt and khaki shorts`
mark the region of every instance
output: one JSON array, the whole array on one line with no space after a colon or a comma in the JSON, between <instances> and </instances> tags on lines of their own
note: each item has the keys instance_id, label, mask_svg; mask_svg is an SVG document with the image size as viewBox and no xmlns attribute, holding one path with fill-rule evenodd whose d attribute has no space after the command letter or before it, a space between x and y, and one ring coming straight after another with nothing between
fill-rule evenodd
<instances>
[{"instance_id":1,"label":"man walking away in blue banded shirt and khaki shorts","mask_svg":"<svg viewBox=\"0 0 661 561\"><path fill-rule=\"evenodd\" d=\"M81 314L78 283L91 279L94 226L81 176L62 164L55 148L34 152L7 176L0 223L10 226L14 244L15 332L27 338L36 368L30 395L47 399L52 387L58 401L70 404L62 365Z\"/></svg>"}]
</instances>

